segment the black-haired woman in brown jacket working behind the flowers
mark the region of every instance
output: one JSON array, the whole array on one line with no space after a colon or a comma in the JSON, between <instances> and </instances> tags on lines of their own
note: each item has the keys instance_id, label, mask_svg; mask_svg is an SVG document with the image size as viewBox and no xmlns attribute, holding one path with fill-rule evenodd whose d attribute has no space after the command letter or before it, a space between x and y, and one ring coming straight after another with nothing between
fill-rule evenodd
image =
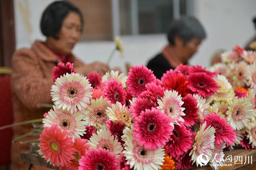
<instances>
[{"instance_id":1,"label":"black-haired woman in brown jacket working behind the flowers","mask_svg":"<svg viewBox=\"0 0 256 170\"><path fill-rule=\"evenodd\" d=\"M85 65L72 55L71 51L81 36L82 28L82 14L71 3L57 1L45 9L41 31L47 37L46 41L35 41L30 49L17 50L12 57L14 123L43 118L48 109L38 108L38 104L52 103L52 69L58 62L74 63L76 72L83 75L90 71L103 74L109 70L104 63ZM29 132L30 128L31 125L14 128L14 138ZM25 140L30 139L35 137ZM29 149L29 144L20 145L17 142L13 145L12 170L27 169L28 165L19 160L19 153Z\"/></svg>"}]
</instances>

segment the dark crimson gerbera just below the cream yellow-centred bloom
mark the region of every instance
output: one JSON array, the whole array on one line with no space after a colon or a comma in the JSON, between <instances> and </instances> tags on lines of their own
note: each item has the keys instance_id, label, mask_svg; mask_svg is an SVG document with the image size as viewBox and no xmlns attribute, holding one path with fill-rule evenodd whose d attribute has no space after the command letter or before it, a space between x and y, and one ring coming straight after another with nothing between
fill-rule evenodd
<instances>
[{"instance_id":1,"label":"dark crimson gerbera just below the cream yellow-centred bloom","mask_svg":"<svg viewBox=\"0 0 256 170\"><path fill-rule=\"evenodd\" d=\"M123 136L123 129L125 128L125 124L120 120L116 121L114 124L112 120L107 120L106 124L110 134L114 135L114 137L117 136L118 142L120 142L123 146L124 141L121 140L121 136Z\"/></svg>"}]
</instances>

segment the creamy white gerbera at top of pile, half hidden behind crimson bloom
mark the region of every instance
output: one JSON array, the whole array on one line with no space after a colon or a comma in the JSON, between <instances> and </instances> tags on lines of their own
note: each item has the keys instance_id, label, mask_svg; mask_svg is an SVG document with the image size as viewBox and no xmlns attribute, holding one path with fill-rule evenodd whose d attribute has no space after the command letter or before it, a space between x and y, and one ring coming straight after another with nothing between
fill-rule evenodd
<instances>
[{"instance_id":1,"label":"creamy white gerbera at top of pile, half hidden behind crimson bloom","mask_svg":"<svg viewBox=\"0 0 256 170\"><path fill-rule=\"evenodd\" d=\"M122 83L123 87L125 87L126 86L125 82L127 78L128 78L127 76L123 76L123 73L119 74L119 71L111 70L106 72L106 74L102 76L102 81L106 82L106 81L110 81L111 79L114 79L117 81L118 84Z\"/></svg>"}]
</instances>

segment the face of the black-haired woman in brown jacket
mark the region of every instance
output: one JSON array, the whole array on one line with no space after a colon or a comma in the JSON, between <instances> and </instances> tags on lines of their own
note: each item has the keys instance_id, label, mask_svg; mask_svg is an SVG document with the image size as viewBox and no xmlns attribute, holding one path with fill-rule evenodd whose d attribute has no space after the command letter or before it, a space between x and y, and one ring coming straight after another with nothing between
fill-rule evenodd
<instances>
[{"instance_id":1,"label":"face of the black-haired woman in brown jacket","mask_svg":"<svg viewBox=\"0 0 256 170\"><path fill-rule=\"evenodd\" d=\"M81 32L82 23L79 14L69 12L62 22L61 30L58 33L59 38L50 37L54 50L62 55L71 54L72 49L80 39Z\"/></svg>"}]
</instances>

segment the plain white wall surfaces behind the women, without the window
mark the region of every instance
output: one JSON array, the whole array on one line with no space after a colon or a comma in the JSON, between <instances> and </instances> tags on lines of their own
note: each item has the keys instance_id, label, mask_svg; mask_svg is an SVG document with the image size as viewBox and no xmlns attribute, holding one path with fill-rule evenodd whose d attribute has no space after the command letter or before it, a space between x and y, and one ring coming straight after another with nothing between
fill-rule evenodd
<instances>
[{"instance_id":1,"label":"plain white wall surfaces behind the women, without the window","mask_svg":"<svg viewBox=\"0 0 256 170\"><path fill-rule=\"evenodd\" d=\"M53 0L14 0L17 48L29 48L34 40L45 39L40 32L39 21L42 11L51 2ZM27 3L29 8L18 8L19 3L24 7ZM231 49L236 44L243 47L255 33L252 24L252 18L256 16L255 7L255 0L194 0L195 16L204 25L208 37L190 63L206 67L217 49ZM125 70L126 62L146 64L167 42L165 35L122 36L121 41L124 58L120 59L117 52L110 66L120 66L122 70ZM105 62L113 48L114 42L79 42L73 53L85 63Z\"/></svg>"}]
</instances>

